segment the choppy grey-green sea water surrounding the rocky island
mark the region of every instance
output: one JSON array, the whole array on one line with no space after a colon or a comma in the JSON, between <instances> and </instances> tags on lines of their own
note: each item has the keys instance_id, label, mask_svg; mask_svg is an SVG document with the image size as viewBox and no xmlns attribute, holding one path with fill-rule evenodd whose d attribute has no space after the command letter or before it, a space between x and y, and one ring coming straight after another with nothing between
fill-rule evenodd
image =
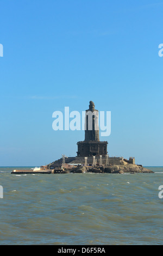
<instances>
[{"instance_id":1,"label":"choppy grey-green sea water surrounding the rocky island","mask_svg":"<svg viewBox=\"0 0 163 256\"><path fill-rule=\"evenodd\" d=\"M162 245L163 167L148 168L154 173L33 175L1 167L0 244Z\"/></svg>"}]
</instances>

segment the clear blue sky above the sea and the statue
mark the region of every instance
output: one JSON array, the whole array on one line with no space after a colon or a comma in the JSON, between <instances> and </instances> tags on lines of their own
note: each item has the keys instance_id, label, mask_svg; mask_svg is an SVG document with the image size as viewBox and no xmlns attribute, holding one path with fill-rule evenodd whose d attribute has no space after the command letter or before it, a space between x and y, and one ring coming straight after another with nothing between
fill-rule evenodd
<instances>
[{"instance_id":1,"label":"clear blue sky above the sea and the statue","mask_svg":"<svg viewBox=\"0 0 163 256\"><path fill-rule=\"evenodd\" d=\"M110 156L163 166L162 0L0 0L0 166L76 156L52 113L111 111Z\"/></svg>"}]
</instances>

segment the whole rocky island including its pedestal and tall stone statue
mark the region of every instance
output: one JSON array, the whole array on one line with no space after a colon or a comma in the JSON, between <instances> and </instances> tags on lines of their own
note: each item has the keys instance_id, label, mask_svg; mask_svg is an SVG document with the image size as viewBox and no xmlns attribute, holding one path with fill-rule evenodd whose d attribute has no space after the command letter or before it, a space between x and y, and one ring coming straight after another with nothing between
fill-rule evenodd
<instances>
[{"instance_id":1,"label":"whole rocky island including its pedestal and tall stone statue","mask_svg":"<svg viewBox=\"0 0 163 256\"><path fill-rule=\"evenodd\" d=\"M11 173L153 173L141 164L135 164L135 157L129 157L129 160L124 157L109 157L108 142L99 141L98 110L93 101L90 101L89 109L85 111L85 140L77 142L77 145L76 157L62 155L61 159L47 166L33 170L13 170Z\"/></svg>"}]
</instances>

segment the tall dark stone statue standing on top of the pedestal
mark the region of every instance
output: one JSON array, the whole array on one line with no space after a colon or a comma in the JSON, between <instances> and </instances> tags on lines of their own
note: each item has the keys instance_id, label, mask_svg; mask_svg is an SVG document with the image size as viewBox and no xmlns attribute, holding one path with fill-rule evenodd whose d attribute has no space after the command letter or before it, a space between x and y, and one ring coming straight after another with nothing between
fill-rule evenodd
<instances>
[{"instance_id":1,"label":"tall dark stone statue standing on top of the pedestal","mask_svg":"<svg viewBox=\"0 0 163 256\"><path fill-rule=\"evenodd\" d=\"M99 141L98 110L93 101L85 113L85 141Z\"/></svg>"}]
</instances>

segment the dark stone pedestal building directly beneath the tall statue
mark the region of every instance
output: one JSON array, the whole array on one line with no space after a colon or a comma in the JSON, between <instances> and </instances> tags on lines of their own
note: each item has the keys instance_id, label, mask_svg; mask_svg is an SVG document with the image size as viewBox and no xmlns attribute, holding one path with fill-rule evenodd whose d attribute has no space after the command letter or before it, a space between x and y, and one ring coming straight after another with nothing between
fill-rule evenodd
<instances>
[{"instance_id":1,"label":"dark stone pedestal building directly beneath the tall statue","mask_svg":"<svg viewBox=\"0 0 163 256\"><path fill-rule=\"evenodd\" d=\"M107 155L106 141L80 141L77 142L77 156L105 156Z\"/></svg>"}]
</instances>

